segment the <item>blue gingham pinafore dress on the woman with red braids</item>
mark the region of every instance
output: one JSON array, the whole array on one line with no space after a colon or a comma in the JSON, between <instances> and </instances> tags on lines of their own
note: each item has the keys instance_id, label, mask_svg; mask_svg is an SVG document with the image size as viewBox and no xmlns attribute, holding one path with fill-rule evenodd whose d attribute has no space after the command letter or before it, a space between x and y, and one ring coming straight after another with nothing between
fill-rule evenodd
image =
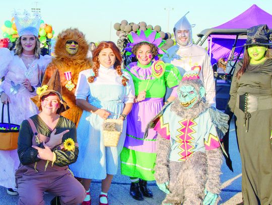
<instances>
[{"instance_id":1,"label":"blue gingham pinafore dress on the woman with red braids","mask_svg":"<svg viewBox=\"0 0 272 205\"><path fill-rule=\"evenodd\" d=\"M112 113L108 118L118 119L124 108L126 88L123 85L94 85L93 83L89 83L89 86L89 103ZM78 160L70 165L76 177L105 179L106 174L117 173L119 154L125 140L126 120L123 122L123 131L117 147L104 146L103 122L99 115L83 111L77 129Z\"/></svg>"}]
</instances>

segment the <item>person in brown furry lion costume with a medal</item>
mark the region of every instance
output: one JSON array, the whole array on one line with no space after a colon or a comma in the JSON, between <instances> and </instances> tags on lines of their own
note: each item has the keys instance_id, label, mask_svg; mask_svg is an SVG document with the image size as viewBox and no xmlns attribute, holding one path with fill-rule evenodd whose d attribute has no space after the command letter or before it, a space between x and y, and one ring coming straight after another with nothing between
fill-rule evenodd
<instances>
[{"instance_id":1,"label":"person in brown furry lion costume with a medal","mask_svg":"<svg viewBox=\"0 0 272 205\"><path fill-rule=\"evenodd\" d=\"M87 58L89 44L84 34L78 29L66 29L58 34L55 44L55 58L47 66L42 85L47 84L56 69L59 70L62 93L70 109L61 113L76 125L82 110L76 105L76 83L79 73L90 69L91 61Z\"/></svg>"}]
</instances>

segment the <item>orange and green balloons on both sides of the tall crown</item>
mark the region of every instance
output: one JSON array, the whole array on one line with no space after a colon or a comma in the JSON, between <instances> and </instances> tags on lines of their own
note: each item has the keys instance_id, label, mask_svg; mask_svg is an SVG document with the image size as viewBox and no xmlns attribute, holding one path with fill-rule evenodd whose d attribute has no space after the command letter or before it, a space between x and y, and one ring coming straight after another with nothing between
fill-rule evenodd
<instances>
[{"instance_id":1,"label":"orange and green balloons on both sides of the tall crown","mask_svg":"<svg viewBox=\"0 0 272 205\"><path fill-rule=\"evenodd\" d=\"M5 21L4 25L1 27L3 31L3 37L9 38L11 42L15 42L19 37L18 31L16 28L16 24L14 22L14 17L11 21ZM54 31L50 24L45 24L43 20L41 20L40 30L39 30L39 39L41 43L46 43L47 38L52 38L54 35Z\"/></svg>"}]
</instances>

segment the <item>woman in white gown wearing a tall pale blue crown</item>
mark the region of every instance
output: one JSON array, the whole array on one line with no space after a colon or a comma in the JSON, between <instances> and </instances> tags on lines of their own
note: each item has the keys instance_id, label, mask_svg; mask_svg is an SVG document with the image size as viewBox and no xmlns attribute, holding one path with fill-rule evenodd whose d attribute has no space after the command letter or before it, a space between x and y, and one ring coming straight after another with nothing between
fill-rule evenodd
<instances>
[{"instance_id":1,"label":"woman in white gown wearing a tall pale blue crown","mask_svg":"<svg viewBox=\"0 0 272 205\"><path fill-rule=\"evenodd\" d=\"M37 37L40 17L35 16L30 21L32 25L28 26L20 25L18 18L15 17L15 23L20 37L16 42L15 53L7 48L0 49L0 78L5 77L0 85L0 98L3 104L10 104L10 119L14 124L21 124L24 119L38 113L30 98L36 95L43 72L51 61L51 56L40 55L40 41ZM2 109L0 113L2 114ZM4 122L7 121L5 106ZM20 164L17 149L0 150L0 162L0 186L6 187L9 194L17 195L14 191L14 174Z\"/></svg>"}]
</instances>

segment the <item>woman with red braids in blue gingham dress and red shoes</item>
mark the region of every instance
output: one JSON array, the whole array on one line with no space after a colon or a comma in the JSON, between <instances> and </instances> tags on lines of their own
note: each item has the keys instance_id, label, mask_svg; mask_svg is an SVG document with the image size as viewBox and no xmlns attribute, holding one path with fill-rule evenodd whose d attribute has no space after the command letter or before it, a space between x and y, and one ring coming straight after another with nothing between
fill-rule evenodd
<instances>
[{"instance_id":1,"label":"woman with red braids in blue gingham dress and red shoes","mask_svg":"<svg viewBox=\"0 0 272 205\"><path fill-rule=\"evenodd\" d=\"M90 196L88 196L90 179L102 180L100 200L101 197L105 199L107 195L105 193L109 189L112 175L117 173L119 154L124 145L125 116L130 112L134 100L133 81L130 80L128 73L122 74L120 70L121 55L115 50L112 55L113 49L107 49L101 49L101 46L98 46L94 51L94 67L92 70L85 70L79 74L75 93L77 105L83 109L83 113L77 129L79 155L77 161L70 165L70 169L75 177L83 178L83 185L87 192L83 204L90 204ZM117 47L116 49L118 50ZM105 57L108 54L109 56ZM106 64L103 57L106 59ZM111 61L112 65L109 66L108 62ZM116 62L119 63L117 68L115 68ZM99 114L98 111L100 111ZM102 115L101 111L106 113L106 116ZM117 147L104 146L102 135L104 119L102 117L124 120Z\"/></svg>"}]
</instances>

